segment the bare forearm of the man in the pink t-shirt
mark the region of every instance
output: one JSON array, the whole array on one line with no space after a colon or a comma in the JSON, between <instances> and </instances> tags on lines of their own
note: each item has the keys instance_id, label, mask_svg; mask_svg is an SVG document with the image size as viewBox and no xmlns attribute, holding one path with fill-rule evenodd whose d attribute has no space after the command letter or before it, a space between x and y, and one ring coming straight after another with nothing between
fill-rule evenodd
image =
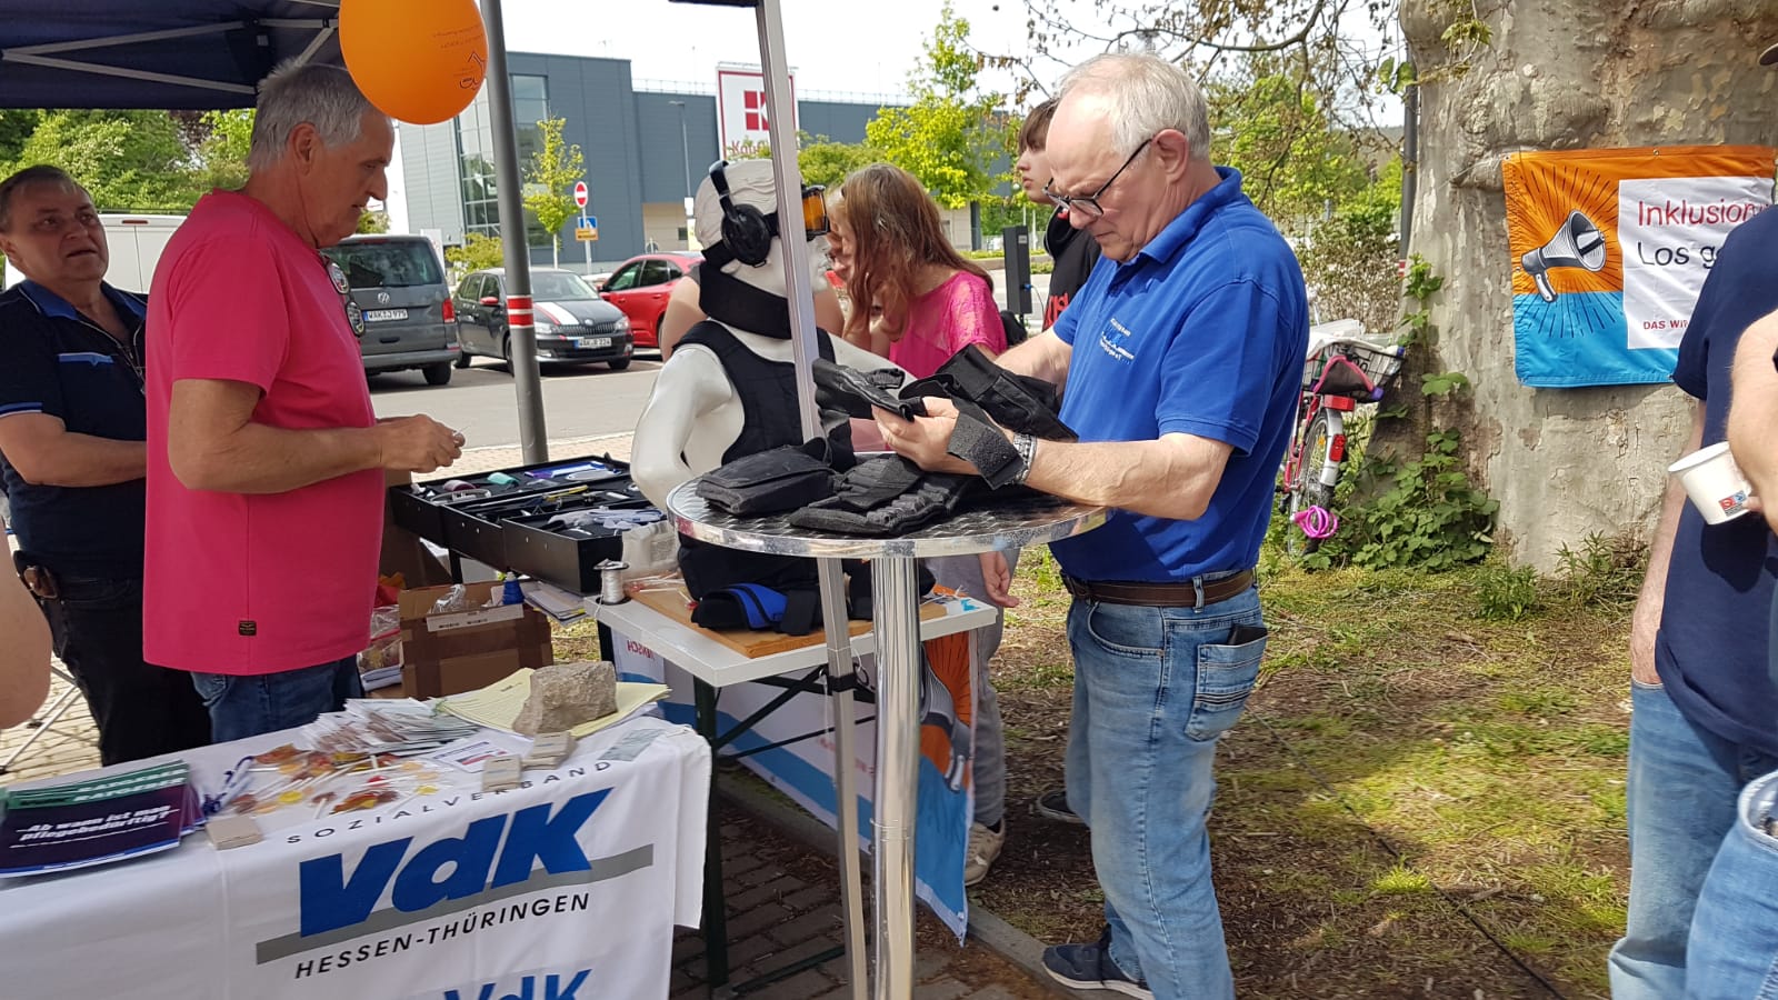
<instances>
[{"instance_id":1,"label":"bare forearm of the man in the pink t-shirt","mask_svg":"<svg viewBox=\"0 0 1778 1000\"><path fill-rule=\"evenodd\" d=\"M169 447L169 459L181 450ZM185 461L172 461L180 482L215 493L288 493L382 466L370 427L290 431L249 422L185 452Z\"/></svg>"}]
</instances>

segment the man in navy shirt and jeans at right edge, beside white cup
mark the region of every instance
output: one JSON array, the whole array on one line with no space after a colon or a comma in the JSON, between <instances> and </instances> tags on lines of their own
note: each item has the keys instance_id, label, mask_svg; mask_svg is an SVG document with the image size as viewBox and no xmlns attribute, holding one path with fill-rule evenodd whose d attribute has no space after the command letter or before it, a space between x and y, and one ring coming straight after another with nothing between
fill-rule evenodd
<instances>
[{"instance_id":1,"label":"man in navy shirt and jeans at right edge, beside white cup","mask_svg":"<svg viewBox=\"0 0 1778 1000\"><path fill-rule=\"evenodd\" d=\"M1698 294L1673 368L1698 400L1678 454L1723 440L1735 345L1778 310L1774 254L1778 212L1762 212L1728 235ZM1735 797L1778 767L1766 673L1774 568L1778 539L1760 518L1707 525L1668 484L1630 628L1630 909L1611 950L1614 1000L1686 995L1693 907Z\"/></svg>"}]
</instances>

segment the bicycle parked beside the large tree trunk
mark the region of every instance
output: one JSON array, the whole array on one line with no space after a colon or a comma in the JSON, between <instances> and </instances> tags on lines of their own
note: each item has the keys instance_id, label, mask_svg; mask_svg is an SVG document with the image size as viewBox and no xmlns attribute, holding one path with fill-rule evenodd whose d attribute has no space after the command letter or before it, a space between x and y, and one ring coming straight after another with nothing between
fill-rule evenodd
<instances>
[{"instance_id":1,"label":"bicycle parked beside the large tree trunk","mask_svg":"<svg viewBox=\"0 0 1778 1000\"><path fill-rule=\"evenodd\" d=\"M1405 354L1399 343L1369 340L1358 320L1309 327L1303 395L1278 486L1298 528L1285 532L1285 552L1307 555L1339 527L1332 507L1346 466L1346 415L1383 399Z\"/></svg>"}]
</instances>

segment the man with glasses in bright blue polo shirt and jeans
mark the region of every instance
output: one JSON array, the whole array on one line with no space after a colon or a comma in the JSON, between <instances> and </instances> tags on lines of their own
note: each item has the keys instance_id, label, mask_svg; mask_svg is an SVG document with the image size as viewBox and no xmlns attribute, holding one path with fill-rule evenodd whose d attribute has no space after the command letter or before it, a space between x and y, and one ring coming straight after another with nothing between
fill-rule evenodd
<instances>
[{"instance_id":1,"label":"man with glasses in bright blue polo shirt and jeans","mask_svg":"<svg viewBox=\"0 0 1778 1000\"><path fill-rule=\"evenodd\" d=\"M1309 342L1296 256L1209 160L1191 75L1149 55L1101 55L1061 84L1049 194L1104 258L1054 329L1001 365L1067 386L1079 443L1008 440L1024 482L1111 507L1054 543L1074 605L1069 806L1092 827L1106 932L1044 952L1076 989L1234 996L1205 819L1216 740L1241 715L1266 649L1252 568L1271 516ZM889 445L925 468L957 413L878 411ZM1006 571L985 559L989 596Z\"/></svg>"}]
</instances>

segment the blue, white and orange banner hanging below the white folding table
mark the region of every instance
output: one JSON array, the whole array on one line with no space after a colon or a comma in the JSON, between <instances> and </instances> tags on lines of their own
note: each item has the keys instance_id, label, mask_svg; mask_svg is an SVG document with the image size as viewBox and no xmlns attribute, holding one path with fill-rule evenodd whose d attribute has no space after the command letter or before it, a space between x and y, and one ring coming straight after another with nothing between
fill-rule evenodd
<instances>
[{"instance_id":1,"label":"blue, white and orange banner hanging below the white folding table","mask_svg":"<svg viewBox=\"0 0 1778 1000\"><path fill-rule=\"evenodd\" d=\"M983 607L969 598L946 601L948 614L964 614ZM672 696L661 703L661 714L676 722L693 724L692 678L660 653L628 639L613 628L613 658L619 680L663 681ZM976 655L974 632L958 632L925 642L928 694L921 698L919 733L919 792L914 836L919 843L914 858L914 890L932 911L944 920L958 940L969 923L969 900L964 895L964 859L969 851L969 820L974 813L974 699L973 669ZM875 690L877 664L861 657L859 680ZM942 687L932 687L937 681ZM718 731L727 733L772 699L781 687L765 683L738 683L722 689L717 701ZM948 705L946 705L948 701ZM862 699L853 703L859 721L855 730L859 774L859 840L869 851L871 794L877 779L877 705ZM818 733L798 740L807 733ZM786 746L763 749L741 758L750 770L789 795L827 826L837 827L834 813L834 744L832 699L825 687L800 692L779 710L754 724L733 740L736 751L754 751L782 740Z\"/></svg>"}]
</instances>

